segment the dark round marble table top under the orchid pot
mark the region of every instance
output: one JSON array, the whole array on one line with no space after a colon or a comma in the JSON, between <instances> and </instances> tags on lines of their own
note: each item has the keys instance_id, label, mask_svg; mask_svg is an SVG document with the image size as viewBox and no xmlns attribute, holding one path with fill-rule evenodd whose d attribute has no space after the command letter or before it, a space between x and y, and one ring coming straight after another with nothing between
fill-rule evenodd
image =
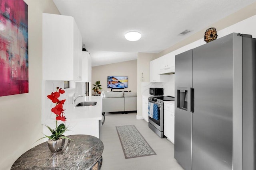
<instances>
[{"instance_id":1,"label":"dark round marble table top under the orchid pot","mask_svg":"<svg viewBox=\"0 0 256 170\"><path fill-rule=\"evenodd\" d=\"M11 170L73 170L90 168L102 156L103 143L91 135L67 136L73 141L65 141L64 149L51 152L47 142L22 154Z\"/></svg>"}]
</instances>

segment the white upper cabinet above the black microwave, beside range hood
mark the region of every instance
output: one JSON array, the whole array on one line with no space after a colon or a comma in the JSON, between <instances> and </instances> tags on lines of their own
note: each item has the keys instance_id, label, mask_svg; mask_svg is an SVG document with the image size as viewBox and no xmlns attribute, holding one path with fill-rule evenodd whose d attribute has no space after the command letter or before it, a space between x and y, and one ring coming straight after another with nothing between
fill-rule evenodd
<instances>
[{"instance_id":1,"label":"white upper cabinet above the black microwave, beside range hood","mask_svg":"<svg viewBox=\"0 0 256 170\"><path fill-rule=\"evenodd\" d=\"M169 75L159 74L161 59L150 61L150 82L167 82Z\"/></svg>"}]
</instances>

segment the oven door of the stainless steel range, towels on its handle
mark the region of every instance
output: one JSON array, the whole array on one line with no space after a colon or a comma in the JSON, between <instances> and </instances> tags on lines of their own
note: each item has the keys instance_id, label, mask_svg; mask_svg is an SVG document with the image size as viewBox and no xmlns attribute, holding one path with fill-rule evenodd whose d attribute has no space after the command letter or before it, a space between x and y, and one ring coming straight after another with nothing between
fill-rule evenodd
<instances>
[{"instance_id":1,"label":"oven door of the stainless steel range, towels on its handle","mask_svg":"<svg viewBox=\"0 0 256 170\"><path fill-rule=\"evenodd\" d=\"M159 105L154 102L148 102L148 104L155 104L158 109L158 116L150 116L150 107L148 107L148 123L152 124L159 131L164 131L164 105ZM152 105L150 105L152 106ZM152 114L151 114L152 115Z\"/></svg>"}]
</instances>

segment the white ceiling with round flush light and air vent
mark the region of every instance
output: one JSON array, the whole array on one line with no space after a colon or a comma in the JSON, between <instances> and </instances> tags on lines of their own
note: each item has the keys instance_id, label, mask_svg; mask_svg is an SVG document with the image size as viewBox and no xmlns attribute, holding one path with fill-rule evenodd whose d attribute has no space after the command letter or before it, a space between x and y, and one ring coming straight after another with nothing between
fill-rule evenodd
<instances>
[{"instance_id":1,"label":"white ceiling with round flush light and air vent","mask_svg":"<svg viewBox=\"0 0 256 170\"><path fill-rule=\"evenodd\" d=\"M53 0L60 14L74 17L92 66L159 53L255 0ZM185 29L186 35L179 35ZM139 31L139 41L124 34ZM218 30L217 30L218 31ZM203 35L202 35L203 37ZM82 48L82 47L81 47Z\"/></svg>"}]
</instances>

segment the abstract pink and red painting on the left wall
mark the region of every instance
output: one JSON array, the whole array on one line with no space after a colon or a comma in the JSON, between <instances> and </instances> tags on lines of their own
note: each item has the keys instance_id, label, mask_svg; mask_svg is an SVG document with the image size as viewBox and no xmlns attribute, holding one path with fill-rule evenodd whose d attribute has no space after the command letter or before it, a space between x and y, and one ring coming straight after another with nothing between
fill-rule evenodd
<instances>
[{"instance_id":1,"label":"abstract pink and red painting on the left wall","mask_svg":"<svg viewBox=\"0 0 256 170\"><path fill-rule=\"evenodd\" d=\"M28 93L28 5L0 0L0 96Z\"/></svg>"}]
</instances>

